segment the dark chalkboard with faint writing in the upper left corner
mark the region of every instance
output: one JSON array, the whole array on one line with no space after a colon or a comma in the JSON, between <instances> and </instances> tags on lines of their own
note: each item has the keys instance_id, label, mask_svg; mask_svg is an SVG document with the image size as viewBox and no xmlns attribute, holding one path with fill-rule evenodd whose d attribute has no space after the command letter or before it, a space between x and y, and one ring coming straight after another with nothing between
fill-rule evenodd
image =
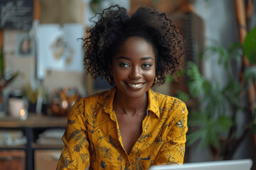
<instances>
[{"instance_id":1,"label":"dark chalkboard with faint writing in the upper left corner","mask_svg":"<svg viewBox=\"0 0 256 170\"><path fill-rule=\"evenodd\" d=\"M1 0L0 28L29 30L33 22L33 0Z\"/></svg>"}]
</instances>

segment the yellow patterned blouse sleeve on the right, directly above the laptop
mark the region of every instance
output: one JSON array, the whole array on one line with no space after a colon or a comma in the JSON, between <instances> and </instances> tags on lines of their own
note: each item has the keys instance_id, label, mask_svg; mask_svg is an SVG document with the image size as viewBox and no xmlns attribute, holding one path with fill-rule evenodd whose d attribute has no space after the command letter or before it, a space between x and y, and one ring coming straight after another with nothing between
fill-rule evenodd
<instances>
[{"instance_id":1,"label":"yellow patterned blouse sleeve on the right, directly above the laptop","mask_svg":"<svg viewBox=\"0 0 256 170\"><path fill-rule=\"evenodd\" d=\"M174 123L171 124L166 142L157 154L154 164L183 164L188 131L188 110L185 103L177 106L174 113Z\"/></svg>"}]
</instances>

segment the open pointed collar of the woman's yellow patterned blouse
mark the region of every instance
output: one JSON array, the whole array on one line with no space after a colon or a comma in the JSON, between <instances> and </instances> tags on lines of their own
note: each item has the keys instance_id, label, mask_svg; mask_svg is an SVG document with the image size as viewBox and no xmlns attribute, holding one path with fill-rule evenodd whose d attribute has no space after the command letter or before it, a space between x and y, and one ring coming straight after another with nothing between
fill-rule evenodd
<instances>
[{"instance_id":1,"label":"open pointed collar of the woman's yellow patterned blouse","mask_svg":"<svg viewBox=\"0 0 256 170\"><path fill-rule=\"evenodd\" d=\"M109 113L111 117L113 116L114 110L113 110L113 101L114 101L114 94L116 92L116 87L112 87L110 91L107 91L106 93L106 98L105 98L105 103L103 106L103 110L105 113ZM159 112L159 97L156 94L156 92L152 91L149 89L148 91L148 101L149 101L149 106L148 106L148 111L151 111L151 113L154 113L157 118L160 117L160 112Z\"/></svg>"}]
</instances>

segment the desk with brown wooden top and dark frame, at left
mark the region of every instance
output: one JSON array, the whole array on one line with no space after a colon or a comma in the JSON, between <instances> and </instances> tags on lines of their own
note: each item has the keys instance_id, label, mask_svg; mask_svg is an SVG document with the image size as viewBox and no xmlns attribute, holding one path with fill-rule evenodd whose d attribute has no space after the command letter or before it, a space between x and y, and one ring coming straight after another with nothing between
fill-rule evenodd
<instances>
[{"instance_id":1,"label":"desk with brown wooden top and dark frame, at left","mask_svg":"<svg viewBox=\"0 0 256 170\"><path fill-rule=\"evenodd\" d=\"M26 146L0 147L0 149L24 149L26 152L26 170L34 169L34 150L35 149L62 149L63 145L38 145L34 141L38 137L38 132L49 128L65 128L68 118L53 117L47 115L36 115L29 113L27 120L18 120L6 116L0 118L0 129L20 129L23 130L27 138ZM31 161L32 160L32 161Z\"/></svg>"}]
</instances>

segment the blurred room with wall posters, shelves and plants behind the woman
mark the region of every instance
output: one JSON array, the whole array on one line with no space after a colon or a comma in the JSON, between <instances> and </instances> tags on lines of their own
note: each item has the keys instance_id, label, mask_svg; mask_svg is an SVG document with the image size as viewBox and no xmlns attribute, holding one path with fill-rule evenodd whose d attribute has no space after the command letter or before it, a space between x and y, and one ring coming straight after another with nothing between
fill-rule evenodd
<instances>
[{"instance_id":1,"label":"blurred room with wall posters, shelves and plants behind the woman","mask_svg":"<svg viewBox=\"0 0 256 170\"><path fill-rule=\"evenodd\" d=\"M178 81L154 90L188 107L184 162L249 158L256 169L255 0L1 0L0 169L55 169L70 107L111 88L86 74L80 38L113 4L156 8L183 35Z\"/></svg>"}]
</instances>

